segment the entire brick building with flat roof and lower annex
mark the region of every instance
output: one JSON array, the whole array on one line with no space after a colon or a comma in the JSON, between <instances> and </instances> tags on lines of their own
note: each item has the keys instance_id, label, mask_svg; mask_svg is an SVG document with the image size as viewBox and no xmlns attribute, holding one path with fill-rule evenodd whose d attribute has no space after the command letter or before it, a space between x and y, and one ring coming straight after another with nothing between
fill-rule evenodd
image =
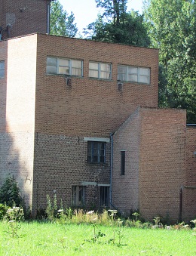
<instances>
[{"instance_id":1,"label":"entire brick building with flat roof and lower annex","mask_svg":"<svg viewBox=\"0 0 196 256\"><path fill-rule=\"evenodd\" d=\"M49 2L8 11L17 37L0 42L0 185L14 175L32 214L55 193L149 220L194 218L196 127L183 109L158 109L158 50L43 34ZM18 10L32 23L17 25Z\"/></svg>"}]
</instances>

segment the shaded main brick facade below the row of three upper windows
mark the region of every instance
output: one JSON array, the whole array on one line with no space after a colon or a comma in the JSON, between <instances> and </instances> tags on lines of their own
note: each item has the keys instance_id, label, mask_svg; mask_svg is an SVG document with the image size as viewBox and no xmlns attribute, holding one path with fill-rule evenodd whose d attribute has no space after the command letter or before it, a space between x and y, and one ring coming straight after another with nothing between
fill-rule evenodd
<instances>
[{"instance_id":1,"label":"shaded main brick facade below the row of three upper windows","mask_svg":"<svg viewBox=\"0 0 196 256\"><path fill-rule=\"evenodd\" d=\"M138 105L157 106L158 50L38 35L37 56L35 134L42 146L36 144L35 136L33 202L38 209L45 207L46 194L52 195L54 190L69 205L71 185L95 182L96 178L109 184L110 156L107 165L87 165L87 142L82 138L109 138ZM72 86L67 86L64 76L47 75L47 56L84 60L84 77L72 78ZM112 63L112 80L89 79L90 60ZM151 85L126 82L118 91L118 63L150 67ZM58 143L61 135L68 137L70 144ZM55 138L55 150L44 136ZM87 187L87 194L97 199L92 196L97 187L90 187L90 191L93 193ZM87 198L87 202L94 203L94 199Z\"/></svg>"}]
</instances>

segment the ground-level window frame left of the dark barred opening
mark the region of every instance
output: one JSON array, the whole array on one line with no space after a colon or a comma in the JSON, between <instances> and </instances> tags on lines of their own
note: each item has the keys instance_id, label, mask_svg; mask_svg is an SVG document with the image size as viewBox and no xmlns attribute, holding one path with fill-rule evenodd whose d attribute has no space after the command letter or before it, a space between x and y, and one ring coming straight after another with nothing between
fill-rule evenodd
<instances>
[{"instance_id":1,"label":"ground-level window frame left of the dark barred opening","mask_svg":"<svg viewBox=\"0 0 196 256\"><path fill-rule=\"evenodd\" d=\"M80 193L82 193L80 195ZM86 187L85 186L72 186L72 205L73 206L81 206L85 204L85 193ZM80 199L82 197L82 199Z\"/></svg>"}]
</instances>

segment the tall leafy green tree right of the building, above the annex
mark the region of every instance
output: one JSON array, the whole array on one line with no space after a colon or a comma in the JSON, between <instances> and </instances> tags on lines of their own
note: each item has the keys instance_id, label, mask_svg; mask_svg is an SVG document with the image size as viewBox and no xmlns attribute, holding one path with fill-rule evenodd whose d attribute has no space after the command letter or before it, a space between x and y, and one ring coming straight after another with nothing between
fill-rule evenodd
<instances>
[{"instance_id":1,"label":"tall leafy green tree right of the building, above the annex","mask_svg":"<svg viewBox=\"0 0 196 256\"><path fill-rule=\"evenodd\" d=\"M193 0L147 0L152 47L160 49L159 106L187 109L196 122L196 25Z\"/></svg>"}]
</instances>

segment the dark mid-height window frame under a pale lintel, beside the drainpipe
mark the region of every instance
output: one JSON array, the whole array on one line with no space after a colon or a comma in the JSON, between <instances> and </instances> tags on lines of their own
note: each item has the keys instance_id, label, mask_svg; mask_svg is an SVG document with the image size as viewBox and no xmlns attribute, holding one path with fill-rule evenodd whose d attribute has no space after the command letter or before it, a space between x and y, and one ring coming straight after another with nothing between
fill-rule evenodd
<instances>
[{"instance_id":1,"label":"dark mid-height window frame under a pale lintel, beside the drainpipe","mask_svg":"<svg viewBox=\"0 0 196 256\"><path fill-rule=\"evenodd\" d=\"M94 153L95 145L97 145L97 154ZM95 157L97 157L97 161L94 161ZM87 140L87 162L92 164L106 163L106 142L105 141Z\"/></svg>"}]
</instances>

